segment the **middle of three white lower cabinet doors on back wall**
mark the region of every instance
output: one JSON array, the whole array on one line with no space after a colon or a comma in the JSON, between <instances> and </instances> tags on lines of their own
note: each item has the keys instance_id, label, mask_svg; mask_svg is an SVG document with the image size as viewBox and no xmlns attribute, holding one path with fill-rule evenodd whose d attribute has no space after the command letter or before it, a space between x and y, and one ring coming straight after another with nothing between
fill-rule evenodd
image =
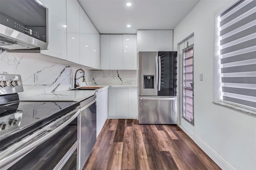
<instances>
[{"instance_id":1,"label":"middle of three white lower cabinet doors on back wall","mask_svg":"<svg viewBox=\"0 0 256 170\"><path fill-rule=\"evenodd\" d=\"M116 116L128 115L128 88L116 89Z\"/></svg>"}]
</instances>

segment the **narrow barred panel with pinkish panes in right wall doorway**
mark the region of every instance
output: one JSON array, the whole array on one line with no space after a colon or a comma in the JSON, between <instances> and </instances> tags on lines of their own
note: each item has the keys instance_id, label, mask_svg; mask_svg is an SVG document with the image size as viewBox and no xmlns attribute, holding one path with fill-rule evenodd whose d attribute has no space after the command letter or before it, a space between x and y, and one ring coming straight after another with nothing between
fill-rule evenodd
<instances>
[{"instance_id":1,"label":"narrow barred panel with pinkish panes in right wall doorway","mask_svg":"<svg viewBox=\"0 0 256 170\"><path fill-rule=\"evenodd\" d=\"M194 125L194 50L183 50L182 117Z\"/></svg>"}]
</instances>

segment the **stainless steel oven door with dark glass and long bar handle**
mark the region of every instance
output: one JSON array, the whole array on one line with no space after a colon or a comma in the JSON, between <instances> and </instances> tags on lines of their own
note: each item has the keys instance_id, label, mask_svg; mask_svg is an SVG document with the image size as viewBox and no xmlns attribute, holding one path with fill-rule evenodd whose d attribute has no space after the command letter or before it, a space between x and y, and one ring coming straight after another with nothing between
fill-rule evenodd
<instances>
[{"instance_id":1,"label":"stainless steel oven door with dark glass and long bar handle","mask_svg":"<svg viewBox=\"0 0 256 170\"><path fill-rule=\"evenodd\" d=\"M1 152L0 169L78 169L79 120L77 108L13 144Z\"/></svg>"}]
</instances>

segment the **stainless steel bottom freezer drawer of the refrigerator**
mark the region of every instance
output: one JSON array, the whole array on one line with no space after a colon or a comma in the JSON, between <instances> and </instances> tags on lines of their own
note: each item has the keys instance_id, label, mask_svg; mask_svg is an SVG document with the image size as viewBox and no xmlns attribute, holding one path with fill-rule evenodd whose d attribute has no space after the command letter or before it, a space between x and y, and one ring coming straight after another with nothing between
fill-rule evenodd
<instances>
[{"instance_id":1,"label":"stainless steel bottom freezer drawer of the refrigerator","mask_svg":"<svg viewBox=\"0 0 256 170\"><path fill-rule=\"evenodd\" d=\"M176 96L139 96L139 124L176 124Z\"/></svg>"}]
</instances>

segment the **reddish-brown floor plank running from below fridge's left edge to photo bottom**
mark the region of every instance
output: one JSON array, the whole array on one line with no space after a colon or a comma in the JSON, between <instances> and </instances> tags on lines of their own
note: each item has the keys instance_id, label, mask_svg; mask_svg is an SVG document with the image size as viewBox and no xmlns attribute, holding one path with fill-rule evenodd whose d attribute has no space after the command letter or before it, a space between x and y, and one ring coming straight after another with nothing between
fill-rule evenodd
<instances>
[{"instance_id":1,"label":"reddish-brown floor plank running from below fridge's left edge to photo bottom","mask_svg":"<svg viewBox=\"0 0 256 170\"><path fill-rule=\"evenodd\" d=\"M136 129L133 133L133 140L134 140L134 158L135 158L135 169L138 170L148 170L148 157L146 154L146 149L144 146L144 141L142 137L142 133L140 130L140 125L135 125Z\"/></svg>"}]
</instances>

